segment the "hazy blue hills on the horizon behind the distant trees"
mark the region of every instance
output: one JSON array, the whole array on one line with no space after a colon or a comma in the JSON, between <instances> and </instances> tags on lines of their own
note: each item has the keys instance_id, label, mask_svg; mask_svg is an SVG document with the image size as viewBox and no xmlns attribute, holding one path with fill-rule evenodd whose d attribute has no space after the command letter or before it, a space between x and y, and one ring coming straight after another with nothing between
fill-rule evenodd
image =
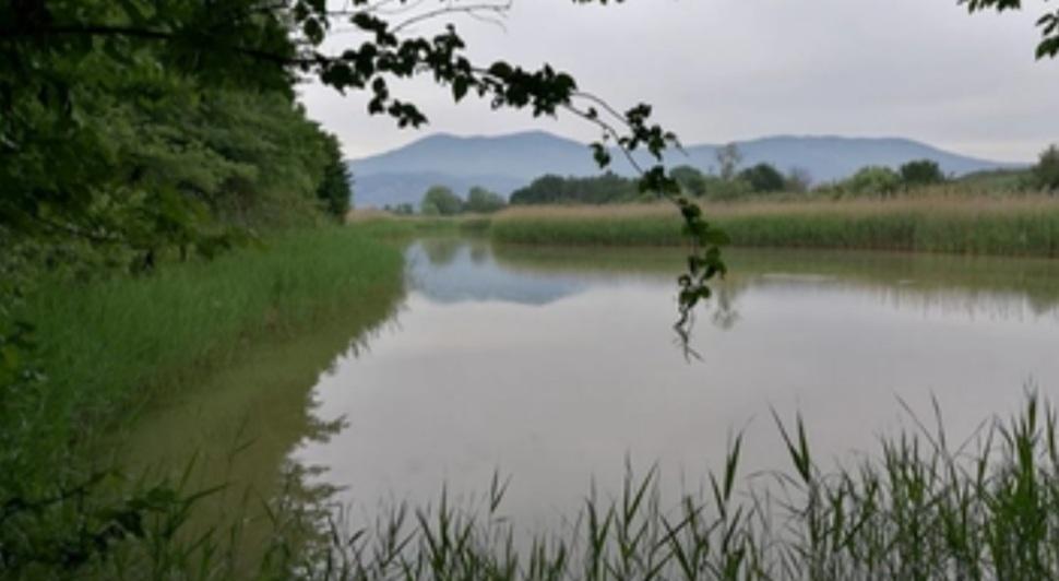
<instances>
[{"instance_id":1,"label":"hazy blue hills on the horizon behind the distant trees","mask_svg":"<svg viewBox=\"0 0 1059 581\"><path fill-rule=\"evenodd\" d=\"M933 159L953 176L1019 167L1018 164L968 157L925 143L896 138L771 137L737 142L742 165L768 162L788 170L807 170L814 182L849 176L866 165L896 167L912 159ZM687 155L673 152L670 165L688 164L703 171L715 165L716 144L686 146ZM644 161L646 163L646 161ZM433 185L465 195L472 186L509 194L544 174L590 176L599 173L585 144L544 131L497 137L457 137L437 133L403 147L349 162L358 208L418 203ZM615 156L614 171L632 175L632 168Z\"/></svg>"}]
</instances>

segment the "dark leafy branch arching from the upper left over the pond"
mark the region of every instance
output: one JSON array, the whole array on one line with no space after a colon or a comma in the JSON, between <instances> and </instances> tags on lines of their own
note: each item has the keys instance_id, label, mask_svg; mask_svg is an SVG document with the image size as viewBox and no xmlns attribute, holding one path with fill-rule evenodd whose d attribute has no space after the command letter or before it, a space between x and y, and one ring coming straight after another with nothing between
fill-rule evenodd
<instances>
[{"instance_id":1,"label":"dark leafy branch arching from the upper left over the pond","mask_svg":"<svg viewBox=\"0 0 1059 581\"><path fill-rule=\"evenodd\" d=\"M575 3L608 2L575 0ZM409 14L419 8L418 3L382 7L369 0L350 0L344 9L335 11L329 10L322 0L274 3L217 0L205 4L188 0L128 0L120 3L22 0L0 9L4 56L19 63L0 73L3 75L0 78L3 87L0 88L10 87L8 93L15 95L13 102L32 102L33 107L48 111L56 123L69 126L78 118L69 112L78 110L79 99L70 97L72 87L78 85L69 74L51 74L56 70L52 61L81 57L86 52L116 54L142 59L144 70L162 71L163 81L177 76L191 78L199 84L289 90L294 75L311 75L340 92L369 92L369 114L388 115L400 127L419 127L427 122L426 115L415 104L395 96L391 85L395 80L425 75L450 90L456 102L467 95L477 95L495 108L524 109L535 117L568 112L595 123L600 130L600 140L591 146L602 167L609 165L609 145L615 144L639 170L642 192L653 192L675 202L682 199L680 189L661 166L664 150L679 146L679 143L673 132L651 121L649 105L639 104L619 111L582 92L572 75L549 64L532 70L502 60L475 63L466 55L465 43L452 24L436 34L407 34L413 25L438 15L500 11L505 5L452 2ZM346 43L343 50L329 52L324 49L324 40L341 25L352 26L343 32L357 34L360 42ZM39 58L41 56L45 58ZM109 71L95 76L109 81L94 85L100 93L112 95L121 85L118 81L123 76L119 73L126 64L108 64ZM41 81L31 83L32 86L19 86L19 79L27 75ZM106 86L108 84L114 86ZM49 97L44 105L27 98L49 92L56 96ZM130 90L128 94L132 96L139 92ZM3 138L0 141L20 143L25 133L39 124L36 119L29 119L31 116L29 112L15 116L15 122L0 130ZM632 157L638 150L646 151L659 165L641 168ZM73 146L69 157L83 151L84 144ZM115 158L120 159L122 155ZM87 183L114 179L112 168L96 165L92 168L97 173L93 176L96 179L87 180ZM20 190L32 191L27 188ZM74 223L79 229L87 230L95 227L90 221L92 227L80 228L84 222L81 213L92 210L98 195L90 192L88 195L71 197L66 187L52 190L53 195L24 194L15 210L23 216L37 216L41 208L59 208L63 214L60 222L64 225ZM163 220L145 230L176 230L170 233L174 238L201 234L185 227L195 217L190 210L194 205L177 204L177 199L179 195L169 193L164 199L144 203L143 206L152 211L167 209ZM49 201L55 203L49 205ZM172 209L180 209L181 215L176 220L171 216L175 214ZM112 215L115 212L110 209L93 212L93 217ZM700 232L704 223L697 224L691 216L686 214L690 220L689 232ZM199 236L199 239L205 238ZM705 240L691 241L693 249L701 244Z\"/></svg>"}]
</instances>

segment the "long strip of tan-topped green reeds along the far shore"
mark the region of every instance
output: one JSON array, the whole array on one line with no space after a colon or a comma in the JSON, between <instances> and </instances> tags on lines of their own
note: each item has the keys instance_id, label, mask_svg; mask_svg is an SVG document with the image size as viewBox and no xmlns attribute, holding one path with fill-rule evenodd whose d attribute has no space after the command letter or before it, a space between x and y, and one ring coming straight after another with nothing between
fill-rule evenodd
<instances>
[{"instance_id":1,"label":"long strip of tan-topped green reeds along the far shore","mask_svg":"<svg viewBox=\"0 0 1059 581\"><path fill-rule=\"evenodd\" d=\"M747 202L704 208L742 247L1059 256L1059 199L906 198ZM498 214L493 239L514 244L675 246L685 240L667 204L538 206Z\"/></svg>"}]
</instances>

